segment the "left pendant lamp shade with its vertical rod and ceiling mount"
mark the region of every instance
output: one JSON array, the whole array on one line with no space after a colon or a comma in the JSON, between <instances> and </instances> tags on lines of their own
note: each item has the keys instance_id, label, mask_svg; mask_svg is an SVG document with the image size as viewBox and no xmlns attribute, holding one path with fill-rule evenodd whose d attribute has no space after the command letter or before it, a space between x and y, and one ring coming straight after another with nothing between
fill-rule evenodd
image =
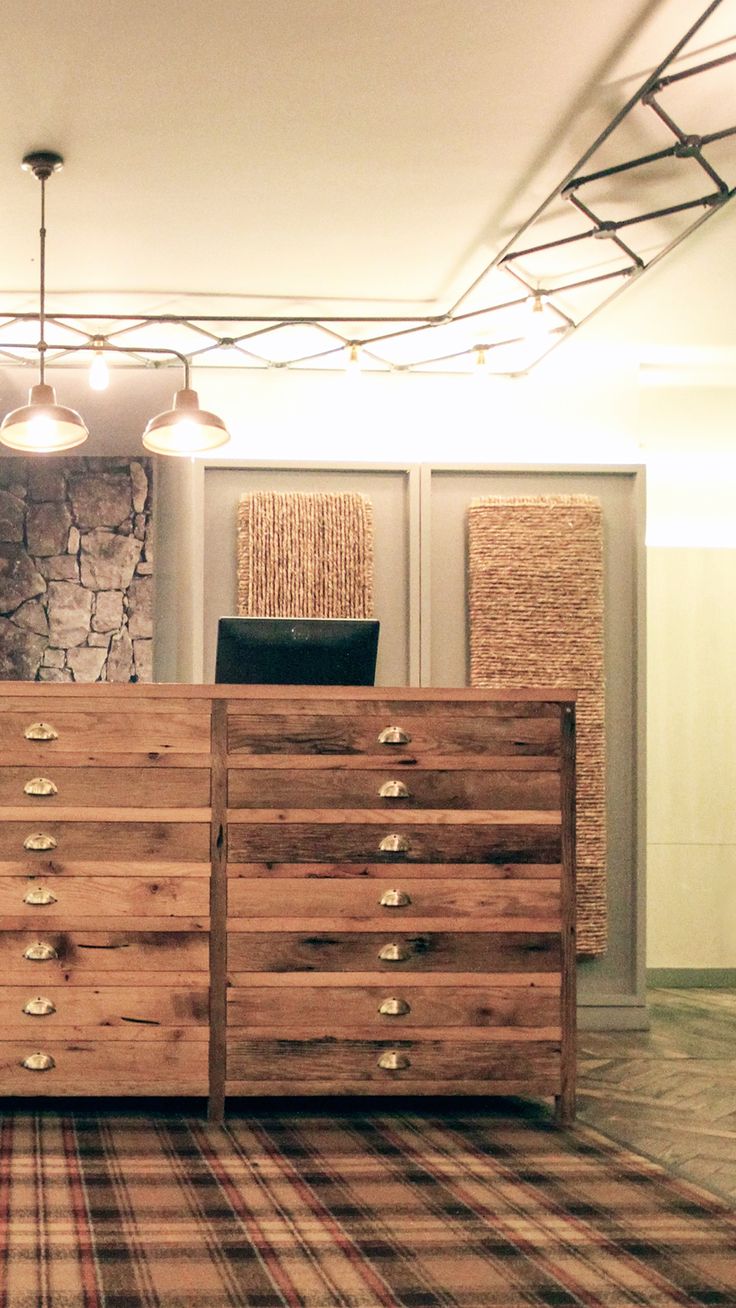
<instances>
[{"instance_id":1,"label":"left pendant lamp shade with its vertical rod and ceiling mount","mask_svg":"<svg viewBox=\"0 0 736 1308\"><path fill-rule=\"evenodd\" d=\"M80 415L56 403L54 387L46 385L46 183L52 173L64 166L64 160L54 150L35 150L26 154L21 165L41 182L41 290L38 310L38 370L39 379L29 391L29 402L8 413L0 426L0 441L10 450L29 454L58 454L72 450L86 441L89 432Z\"/></svg>"}]
</instances>

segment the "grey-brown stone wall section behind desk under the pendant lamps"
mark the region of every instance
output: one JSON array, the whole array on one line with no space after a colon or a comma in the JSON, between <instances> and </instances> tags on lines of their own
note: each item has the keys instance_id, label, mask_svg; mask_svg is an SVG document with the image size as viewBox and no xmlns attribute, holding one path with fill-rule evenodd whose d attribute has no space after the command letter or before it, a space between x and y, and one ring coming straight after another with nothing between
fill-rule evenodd
<instances>
[{"instance_id":1,"label":"grey-brown stone wall section behind desk under the pendant lamps","mask_svg":"<svg viewBox=\"0 0 736 1308\"><path fill-rule=\"evenodd\" d=\"M152 460L0 459L0 679L153 680Z\"/></svg>"}]
</instances>

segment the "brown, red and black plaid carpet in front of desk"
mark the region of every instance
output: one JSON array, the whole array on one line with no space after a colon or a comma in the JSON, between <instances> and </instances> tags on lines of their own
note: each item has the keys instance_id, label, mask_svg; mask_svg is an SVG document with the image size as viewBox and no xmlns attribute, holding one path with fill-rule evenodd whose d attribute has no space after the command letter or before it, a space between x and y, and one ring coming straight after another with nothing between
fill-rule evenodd
<instances>
[{"instance_id":1,"label":"brown, red and black plaid carpet in front of desk","mask_svg":"<svg viewBox=\"0 0 736 1308\"><path fill-rule=\"evenodd\" d=\"M523 1113L13 1108L0 1305L736 1304L724 1203Z\"/></svg>"}]
</instances>

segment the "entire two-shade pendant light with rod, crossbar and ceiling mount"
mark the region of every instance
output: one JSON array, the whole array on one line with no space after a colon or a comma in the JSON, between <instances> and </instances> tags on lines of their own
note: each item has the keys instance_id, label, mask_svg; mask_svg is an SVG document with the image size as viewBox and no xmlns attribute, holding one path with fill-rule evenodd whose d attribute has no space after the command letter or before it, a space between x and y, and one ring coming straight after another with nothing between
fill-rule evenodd
<instances>
[{"instance_id":1,"label":"entire two-shade pendant light with rod, crossbar and ceiling mount","mask_svg":"<svg viewBox=\"0 0 736 1308\"><path fill-rule=\"evenodd\" d=\"M7 413L0 425L0 442L10 450L25 454L59 454L73 450L86 441L89 430L76 409L56 403L52 386L46 382L46 353L50 345L46 340L46 183L54 173L64 167L64 160L56 150L31 150L21 161L25 173L41 182L41 232L39 232L39 296L38 296L38 371L39 379L29 391L27 404ZM111 345L105 337L95 335L84 344L67 347L65 353L92 351L93 369L106 371L105 352L125 353L119 345ZM216 413L200 409L197 394L190 387L190 361L175 349L154 349L148 353L176 356L184 366L184 387L174 396L174 407L158 413L148 424L144 433L144 446L156 454L193 455L225 445L230 439L227 428ZM93 386L94 374L93 374ZM106 385L106 379L102 385Z\"/></svg>"}]
</instances>

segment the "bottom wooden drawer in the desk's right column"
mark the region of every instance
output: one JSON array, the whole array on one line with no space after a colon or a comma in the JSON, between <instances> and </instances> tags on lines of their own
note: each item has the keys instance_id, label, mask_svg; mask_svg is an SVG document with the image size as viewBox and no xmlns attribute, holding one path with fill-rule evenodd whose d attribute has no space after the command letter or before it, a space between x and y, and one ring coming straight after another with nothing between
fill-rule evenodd
<instances>
[{"instance_id":1,"label":"bottom wooden drawer in the desk's right column","mask_svg":"<svg viewBox=\"0 0 736 1308\"><path fill-rule=\"evenodd\" d=\"M388 1050L408 1059L403 1070L390 1071L378 1065ZM294 1083L343 1079L370 1082L375 1093L382 1084L401 1080L452 1083L463 1080L472 1067L475 1079L560 1080L560 1042L448 1041L448 1040L267 1040L233 1039L227 1048L227 1080L261 1079Z\"/></svg>"}]
</instances>

